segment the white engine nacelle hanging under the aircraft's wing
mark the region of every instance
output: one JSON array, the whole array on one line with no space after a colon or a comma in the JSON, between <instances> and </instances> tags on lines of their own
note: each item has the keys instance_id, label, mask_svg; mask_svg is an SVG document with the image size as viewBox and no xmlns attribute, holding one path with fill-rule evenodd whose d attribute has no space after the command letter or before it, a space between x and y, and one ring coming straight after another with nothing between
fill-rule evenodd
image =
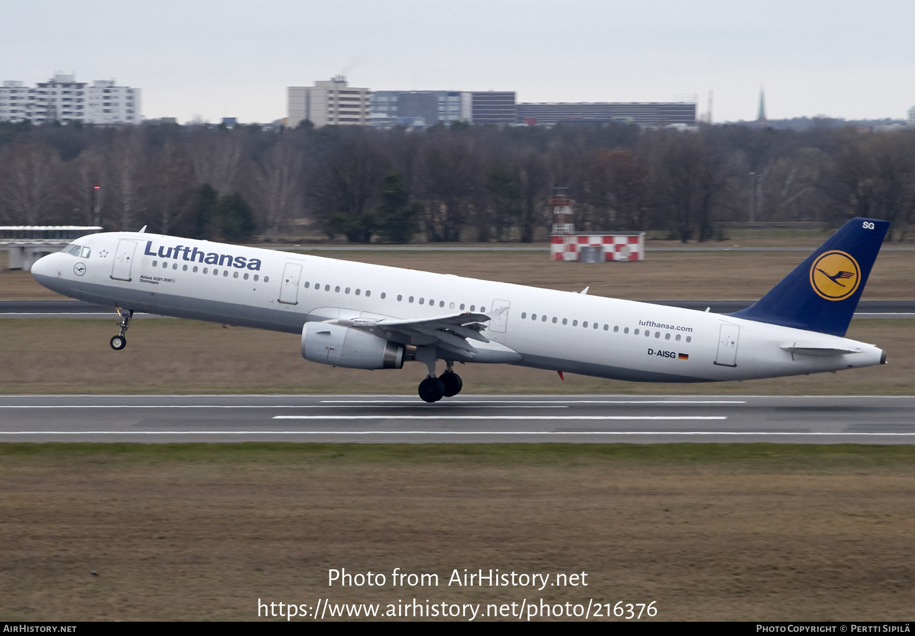
<instances>
[{"instance_id":1,"label":"white engine nacelle hanging under the aircraft's wing","mask_svg":"<svg viewBox=\"0 0 915 636\"><path fill-rule=\"evenodd\" d=\"M400 369L404 366L404 345L361 329L307 322L302 328L302 357L350 369Z\"/></svg>"}]
</instances>

